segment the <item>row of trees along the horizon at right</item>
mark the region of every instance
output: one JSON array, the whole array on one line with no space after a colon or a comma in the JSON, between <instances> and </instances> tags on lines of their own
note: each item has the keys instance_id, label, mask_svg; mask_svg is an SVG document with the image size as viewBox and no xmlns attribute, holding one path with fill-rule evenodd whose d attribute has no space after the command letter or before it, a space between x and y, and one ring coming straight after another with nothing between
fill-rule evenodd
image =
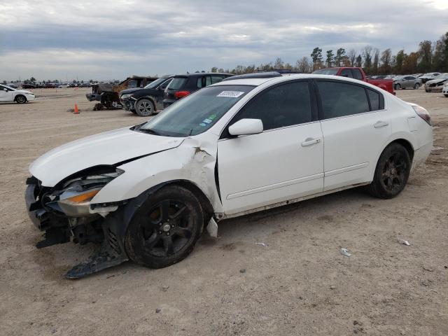
<instances>
[{"instance_id":1,"label":"row of trees along the horizon at right","mask_svg":"<svg viewBox=\"0 0 448 336\"><path fill-rule=\"evenodd\" d=\"M362 50L338 48L337 50L325 50L325 52L316 47L310 57L297 59L295 64L283 62L281 57L277 57L275 62L262 63L258 66L255 64L237 65L234 69L214 66L211 68L211 72L243 74L285 69L310 73L331 66L363 67L367 75L448 72L448 32L440 36L437 41L421 41L418 50L409 52L409 54L402 49L393 55L391 48L380 51L371 45L366 45Z\"/></svg>"}]
</instances>

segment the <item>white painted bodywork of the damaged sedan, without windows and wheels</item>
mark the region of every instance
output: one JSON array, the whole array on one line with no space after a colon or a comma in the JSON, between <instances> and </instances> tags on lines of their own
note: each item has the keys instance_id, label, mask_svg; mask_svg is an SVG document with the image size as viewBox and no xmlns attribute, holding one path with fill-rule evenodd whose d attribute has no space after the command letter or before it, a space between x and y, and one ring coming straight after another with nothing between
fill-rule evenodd
<instances>
[{"instance_id":1,"label":"white painted bodywork of the damaged sedan, without windows and wheels","mask_svg":"<svg viewBox=\"0 0 448 336\"><path fill-rule=\"evenodd\" d=\"M413 168L428 157L432 128L410 104L368 83L361 85L384 95L383 111L219 139L235 113L255 94L296 78L327 78L360 85L351 78L322 75L225 80L211 86L258 86L202 134L159 137L124 128L55 148L38 158L30 172L43 186L51 187L83 169L127 161L118 166L125 173L106 184L93 204L130 200L161 183L181 180L200 188L215 214L223 218L370 183L379 155L396 139L408 141L414 149ZM386 125L374 127L377 122ZM311 139L320 140L303 146Z\"/></svg>"}]
</instances>

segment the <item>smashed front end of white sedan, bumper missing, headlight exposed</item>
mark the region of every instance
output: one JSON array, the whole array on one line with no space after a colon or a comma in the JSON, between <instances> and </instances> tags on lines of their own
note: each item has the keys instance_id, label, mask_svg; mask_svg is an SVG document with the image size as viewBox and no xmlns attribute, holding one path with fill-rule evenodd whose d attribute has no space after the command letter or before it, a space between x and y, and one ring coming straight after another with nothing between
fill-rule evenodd
<instances>
[{"instance_id":1,"label":"smashed front end of white sedan, bumper missing, headlight exposed","mask_svg":"<svg viewBox=\"0 0 448 336\"><path fill-rule=\"evenodd\" d=\"M29 218L36 228L44 232L37 248L89 242L101 244L90 260L67 272L66 277L76 279L127 260L118 225L123 222L125 201L92 204L92 199L107 183L123 174L116 167L94 167L64 179L50 188L31 176L27 179L25 202Z\"/></svg>"}]
</instances>

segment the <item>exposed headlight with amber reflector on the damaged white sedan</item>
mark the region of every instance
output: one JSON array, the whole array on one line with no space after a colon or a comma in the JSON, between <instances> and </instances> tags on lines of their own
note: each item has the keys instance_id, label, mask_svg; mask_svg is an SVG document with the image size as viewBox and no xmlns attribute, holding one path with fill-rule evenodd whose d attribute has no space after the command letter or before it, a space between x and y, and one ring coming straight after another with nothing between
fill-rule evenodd
<instances>
[{"instance_id":1,"label":"exposed headlight with amber reflector on the damaged white sedan","mask_svg":"<svg viewBox=\"0 0 448 336\"><path fill-rule=\"evenodd\" d=\"M91 174L78 179L69 180L64 183L62 190L57 190L50 195L46 195L50 202L45 206L61 211L69 217L85 217L93 214L104 214L115 211L118 206L90 207L90 201L99 193L107 183L123 174L125 171L116 169L116 172L104 174ZM45 202L45 200L44 200Z\"/></svg>"}]
</instances>

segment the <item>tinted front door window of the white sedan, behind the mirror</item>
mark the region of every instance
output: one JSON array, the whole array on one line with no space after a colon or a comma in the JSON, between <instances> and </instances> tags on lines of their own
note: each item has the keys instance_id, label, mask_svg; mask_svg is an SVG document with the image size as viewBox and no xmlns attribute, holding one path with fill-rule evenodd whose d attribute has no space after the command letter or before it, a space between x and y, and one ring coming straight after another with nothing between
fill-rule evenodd
<instances>
[{"instance_id":1,"label":"tinted front door window of the white sedan, behind the mirror","mask_svg":"<svg viewBox=\"0 0 448 336\"><path fill-rule=\"evenodd\" d=\"M311 122L311 98L307 81L281 84L257 94L232 120L260 119L263 130Z\"/></svg>"}]
</instances>

